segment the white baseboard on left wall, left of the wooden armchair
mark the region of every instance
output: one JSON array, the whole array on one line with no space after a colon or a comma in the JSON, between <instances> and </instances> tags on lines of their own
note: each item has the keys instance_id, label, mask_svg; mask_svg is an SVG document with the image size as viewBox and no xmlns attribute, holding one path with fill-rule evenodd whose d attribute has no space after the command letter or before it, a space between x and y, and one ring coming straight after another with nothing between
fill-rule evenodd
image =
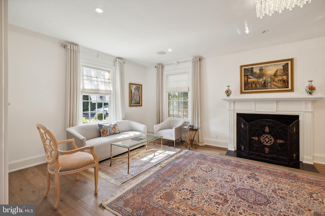
<instances>
[{"instance_id":1,"label":"white baseboard on left wall, left of the wooden armchair","mask_svg":"<svg viewBox=\"0 0 325 216\"><path fill-rule=\"evenodd\" d=\"M46 163L45 154L9 162L9 172Z\"/></svg>"}]
</instances>

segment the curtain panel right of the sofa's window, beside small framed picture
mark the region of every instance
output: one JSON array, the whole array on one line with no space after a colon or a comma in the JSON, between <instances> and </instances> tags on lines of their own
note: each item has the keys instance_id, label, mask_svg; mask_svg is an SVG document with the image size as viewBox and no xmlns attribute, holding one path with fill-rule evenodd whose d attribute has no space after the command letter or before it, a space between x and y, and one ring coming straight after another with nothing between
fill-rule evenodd
<instances>
[{"instance_id":1,"label":"curtain panel right of the sofa's window, beside small framed picture","mask_svg":"<svg viewBox=\"0 0 325 216\"><path fill-rule=\"evenodd\" d=\"M112 121L124 120L124 60L114 60L115 73L113 73L112 105L110 106L110 118Z\"/></svg>"}]
</instances>

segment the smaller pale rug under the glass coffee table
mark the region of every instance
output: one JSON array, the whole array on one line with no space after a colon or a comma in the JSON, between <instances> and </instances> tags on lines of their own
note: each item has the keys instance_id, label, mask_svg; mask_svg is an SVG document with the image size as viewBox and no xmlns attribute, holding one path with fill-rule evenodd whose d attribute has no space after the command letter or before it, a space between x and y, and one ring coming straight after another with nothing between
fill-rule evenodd
<instances>
[{"instance_id":1,"label":"smaller pale rug under the glass coffee table","mask_svg":"<svg viewBox=\"0 0 325 216\"><path fill-rule=\"evenodd\" d=\"M134 154L136 152L143 151L145 149L144 146L134 149L130 151L130 154ZM159 149L159 150L152 150ZM169 147L163 145L163 154L161 154L161 145L148 143L147 151L140 153L133 158L130 157L129 164L129 174L127 174L127 157L121 159L114 159L112 161L112 166L110 166L111 160L105 160L100 162L99 164L99 176L106 179L107 181L120 186L122 183L138 176L142 172L147 169L159 164L166 159L171 158L171 156L175 155L180 149L174 147ZM118 157L127 156L127 153L121 154ZM117 156L115 156L117 157ZM156 169L160 168L160 166L156 166L151 170L151 172L156 171ZM93 168L91 169L93 171Z\"/></svg>"}]
</instances>

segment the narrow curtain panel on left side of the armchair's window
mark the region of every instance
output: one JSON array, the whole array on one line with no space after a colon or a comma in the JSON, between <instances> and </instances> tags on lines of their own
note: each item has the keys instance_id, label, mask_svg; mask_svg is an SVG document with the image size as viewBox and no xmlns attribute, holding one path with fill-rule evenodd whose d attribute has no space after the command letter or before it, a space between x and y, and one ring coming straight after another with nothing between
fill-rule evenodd
<instances>
[{"instance_id":1,"label":"narrow curtain panel on left side of the armchair's window","mask_svg":"<svg viewBox=\"0 0 325 216\"><path fill-rule=\"evenodd\" d=\"M163 121L163 65L156 65L157 88L156 88L156 124Z\"/></svg>"}]
</instances>

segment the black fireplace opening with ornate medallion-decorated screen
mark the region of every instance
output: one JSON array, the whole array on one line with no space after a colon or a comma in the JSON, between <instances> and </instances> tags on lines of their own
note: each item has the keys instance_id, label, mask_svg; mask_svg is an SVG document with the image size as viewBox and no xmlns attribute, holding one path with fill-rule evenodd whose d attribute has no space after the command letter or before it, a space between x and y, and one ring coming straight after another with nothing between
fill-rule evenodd
<instances>
[{"instance_id":1,"label":"black fireplace opening with ornate medallion-decorated screen","mask_svg":"<svg viewBox=\"0 0 325 216\"><path fill-rule=\"evenodd\" d=\"M237 157L299 167L299 115L237 113Z\"/></svg>"}]
</instances>

